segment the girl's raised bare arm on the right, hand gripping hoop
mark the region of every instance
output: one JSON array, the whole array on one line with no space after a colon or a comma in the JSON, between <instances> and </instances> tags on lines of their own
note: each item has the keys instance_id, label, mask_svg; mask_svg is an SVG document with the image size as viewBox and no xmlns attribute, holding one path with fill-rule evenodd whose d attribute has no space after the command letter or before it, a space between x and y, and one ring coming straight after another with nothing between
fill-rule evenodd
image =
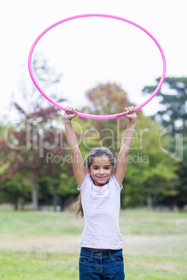
<instances>
[{"instance_id":1,"label":"girl's raised bare arm on the right, hand gripping hoop","mask_svg":"<svg viewBox=\"0 0 187 280\"><path fill-rule=\"evenodd\" d=\"M130 146L133 142L133 136L135 132L135 124L137 115L133 110L135 107L128 107L124 109L125 117L128 118L128 126L126 129L126 134L124 136L124 139L121 143L121 149L119 151L119 155L117 158L117 165L116 169L114 171L114 176L117 178L117 181L119 182L119 185L124 180L124 176L126 173L126 166L127 166L127 160L128 160L128 152L130 150Z\"/></svg>"}]
</instances>

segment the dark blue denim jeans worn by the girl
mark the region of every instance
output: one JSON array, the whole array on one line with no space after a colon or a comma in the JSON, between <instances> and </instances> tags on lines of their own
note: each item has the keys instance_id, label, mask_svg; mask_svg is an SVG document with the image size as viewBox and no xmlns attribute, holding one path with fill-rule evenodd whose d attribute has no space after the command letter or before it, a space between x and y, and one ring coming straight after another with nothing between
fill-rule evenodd
<instances>
[{"instance_id":1,"label":"dark blue denim jeans worn by the girl","mask_svg":"<svg viewBox=\"0 0 187 280\"><path fill-rule=\"evenodd\" d=\"M124 258L122 249L96 251L80 250L80 280L124 280Z\"/></svg>"}]
</instances>

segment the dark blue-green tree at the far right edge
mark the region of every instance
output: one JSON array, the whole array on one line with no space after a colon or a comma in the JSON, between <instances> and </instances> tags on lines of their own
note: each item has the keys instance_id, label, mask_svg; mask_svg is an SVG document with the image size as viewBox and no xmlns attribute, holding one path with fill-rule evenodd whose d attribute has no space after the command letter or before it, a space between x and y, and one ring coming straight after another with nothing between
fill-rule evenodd
<instances>
[{"instance_id":1,"label":"dark blue-green tree at the far right edge","mask_svg":"<svg viewBox=\"0 0 187 280\"><path fill-rule=\"evenodd\" d=\"M159 80L156 79L157 84ZM154 88L155 86L145 86L143 92L152 93ZM167 146L167 150L170 149L168 155L179 161L176 169L178 179L175 180L177 195L168 196L167 201L183 208L187 203L187 77L166 77L156 96L160 97L163 110L158 111L154 118L165 128L167 134L172 136L172 142Z\"/></svg>"}]
</instances>

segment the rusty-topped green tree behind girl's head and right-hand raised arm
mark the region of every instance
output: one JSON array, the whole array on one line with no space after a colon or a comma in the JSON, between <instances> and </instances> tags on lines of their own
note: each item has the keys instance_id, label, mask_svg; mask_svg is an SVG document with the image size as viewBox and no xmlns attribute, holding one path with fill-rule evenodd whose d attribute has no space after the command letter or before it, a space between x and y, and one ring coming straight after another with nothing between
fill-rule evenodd
<instances>
[{"instance_id":1,"label":"rusty-topped green tree behind girl's head and right-hand raised arm","mask_svg":"<svg viewBox=\"0 0 187 280\"><path fill-rule=\"evenodd\" d=\"M130 102L122 88L117 84L100 84L87 92L91 102L86 111L88 114L112 114L124 111ZM124 178L124 189L121 192L121 205L135 206L145 205L154 198L160 198L168 194L174 195L173 180L174 165L167 160L159 146L160 125L150 117L145 117L142 110L137 111L137 126L135 139L128 156L128 166ZM92 120L89 122L80 119L84 128L84 141L80 144L83 154L96 146L106 146L117 159L121 141L127 126L125 118L110 120ZM167 143L170 139L167 139ZM160 172L165 170L165 172ZM159 183L158 183L159 182Z\"/></svg>"}]
</instances>

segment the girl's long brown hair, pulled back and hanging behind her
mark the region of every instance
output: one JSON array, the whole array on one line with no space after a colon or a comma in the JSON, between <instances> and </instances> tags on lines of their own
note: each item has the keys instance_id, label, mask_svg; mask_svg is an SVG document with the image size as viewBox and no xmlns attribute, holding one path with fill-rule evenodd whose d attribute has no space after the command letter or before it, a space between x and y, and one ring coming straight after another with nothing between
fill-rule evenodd
<instances>
[{"instance_id":1,"label":"girl's long brown hair, pulled back and hanging behind her","mask_svg":"<svg viewBox=\"0 0 187 280\"><path fill-rule=\"evenodd\" d=\"M110 150L108 150L107 148L103 148L103 147L98 147L98 148L94 148L93 150L91 150L91 152L89 153L88 158L87 158L87 168L90 170L90 166L92 164L93 157L101 157L102 155L106 155L107 157L109 157L110 164L112 164L112 169L114 169L114 165L115 165L114 156L112 155ZM75 202L75 216L77 218L84 217L84 212L83 212L82 203L81 203L81 193L77 196L77 199Z\"/></svg>"}]
</instances>

